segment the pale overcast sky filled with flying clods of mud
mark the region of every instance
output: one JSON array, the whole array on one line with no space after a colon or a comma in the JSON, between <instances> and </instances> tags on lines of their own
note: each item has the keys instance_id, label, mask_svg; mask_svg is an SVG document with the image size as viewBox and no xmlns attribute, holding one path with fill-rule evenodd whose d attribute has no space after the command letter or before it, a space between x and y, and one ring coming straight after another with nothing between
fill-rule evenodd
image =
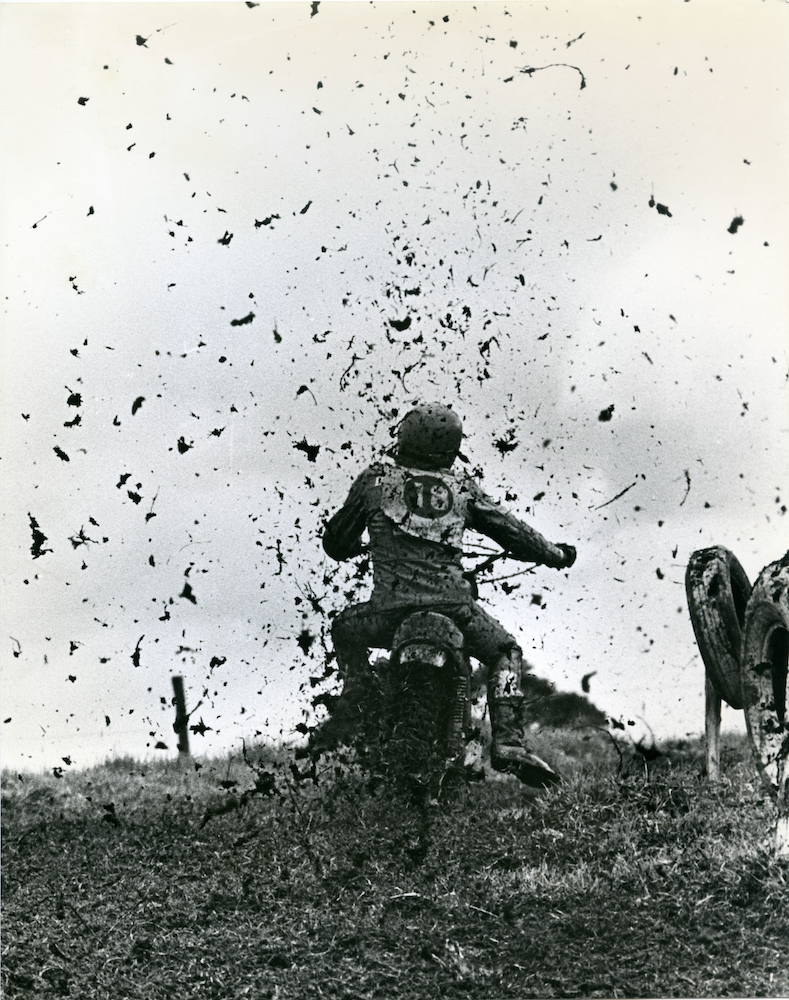
<instances>
[{"instance_id":1,"label":"pale overcast sky filled with flying clods of mud","mask_svg":"<svg viewBox=\"0 0 789 1000\"><path fill-rule=\"evenodd\" d=\"M699 732L688 557L787 545L787 19L1 4L4 764L172 754L174 673L196 752L292 734L424 399L578 549L482 588L536 672Z\"/></svg>"}]
</instances>

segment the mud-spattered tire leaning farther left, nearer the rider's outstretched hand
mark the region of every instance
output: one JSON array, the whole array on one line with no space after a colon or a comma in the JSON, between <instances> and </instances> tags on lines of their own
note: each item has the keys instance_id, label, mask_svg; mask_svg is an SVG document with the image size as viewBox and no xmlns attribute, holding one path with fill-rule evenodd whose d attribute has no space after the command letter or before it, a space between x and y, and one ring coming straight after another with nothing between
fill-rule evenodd
<instances>
[{"instance_id":1,"label":"mud-spattered tire leaning farther left, nearer the rider's outstretched hand","mask_svg":"<svg viewBox=\"0 0 789 1000\"><path fill-rule=\"evenodd\" d=\"M751 584L737 557L721 545L694 552L685 593L707 676L721 698L742 708L740 656Z\"/></svg>"}]
</instances>

